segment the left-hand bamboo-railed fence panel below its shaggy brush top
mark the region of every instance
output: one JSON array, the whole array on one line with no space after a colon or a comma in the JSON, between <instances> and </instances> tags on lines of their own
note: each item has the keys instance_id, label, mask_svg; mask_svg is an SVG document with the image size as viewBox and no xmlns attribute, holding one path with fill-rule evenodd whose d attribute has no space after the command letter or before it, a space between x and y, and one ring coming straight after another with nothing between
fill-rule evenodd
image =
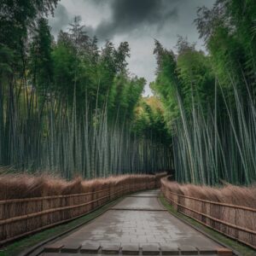
<instances>
[{"instance_id":1,"label":"left-hand bamboo-railed fence panel below its shaggy brush top","mask_svg":"<svg viewBox=\"0 0 256 256\"><path fill-rule=\"evenodd\" d=\"M160 188L160 177L129 177L119 183L104 184L101 189L96 185L83 194L0 201L0 245L78 218L122 195Z\"/></svg>"}]
</instances>

